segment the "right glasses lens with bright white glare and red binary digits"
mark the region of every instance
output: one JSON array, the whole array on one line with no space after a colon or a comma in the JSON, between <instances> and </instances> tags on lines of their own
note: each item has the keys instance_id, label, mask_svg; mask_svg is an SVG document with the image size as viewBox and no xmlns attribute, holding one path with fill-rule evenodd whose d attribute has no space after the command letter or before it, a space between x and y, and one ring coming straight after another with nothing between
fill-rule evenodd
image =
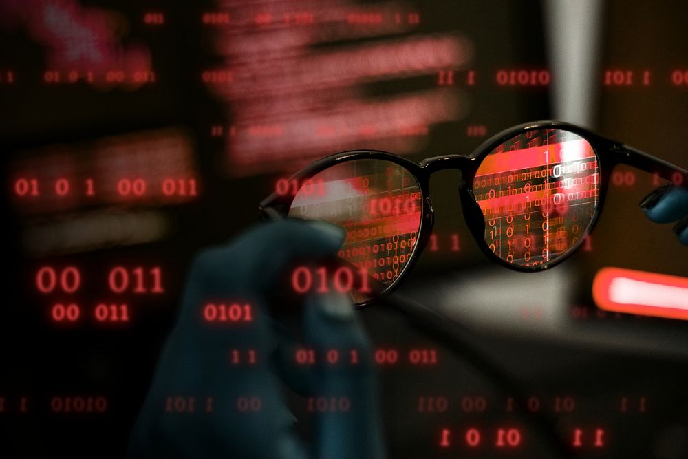
<instances>
[{"instance_id":1,"label":"right glasses lens with bright white glare and red binary digits","mask_svg":"<svg viewBox=\"0 0 688 459\"><path fill-rule=\"evenodd\" d=\"M518 266L548 263L577 246L592 223L599 189L592 145L561 129L510 138L482 160L473 182L486 244Z\"/></svg>"}]
</instances>

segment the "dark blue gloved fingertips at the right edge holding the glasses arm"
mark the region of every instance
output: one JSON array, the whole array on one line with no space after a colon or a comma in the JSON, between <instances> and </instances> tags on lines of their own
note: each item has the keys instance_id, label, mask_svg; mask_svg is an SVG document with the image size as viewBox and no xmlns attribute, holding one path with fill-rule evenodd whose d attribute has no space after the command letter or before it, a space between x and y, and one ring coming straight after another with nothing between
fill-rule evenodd
<instances>
[{"instance_id":1,"label":"dark blue gloved fingertips at the right edge holding the glasses arm","mask_svg":"<svg viewBox=\"0 0 688 459\"><path fill-rule=\"evenodd\" d=\"M667 185L649 193L641 207L649 220L657 223L678 223L674 233L682 244L688 245L688 189L682 186Z\"/></svg>"}]
</instances>

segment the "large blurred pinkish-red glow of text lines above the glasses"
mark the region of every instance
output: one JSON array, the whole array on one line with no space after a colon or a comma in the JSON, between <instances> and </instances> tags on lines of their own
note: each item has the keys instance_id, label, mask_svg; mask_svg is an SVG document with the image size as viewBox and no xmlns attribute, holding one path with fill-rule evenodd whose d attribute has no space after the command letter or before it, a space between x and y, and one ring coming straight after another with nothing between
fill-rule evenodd
<instances>
[{"instance_id":1,"label":"large blurred pinkish-red glow of text lines above the glasses","mask_svg":"<svg viewBox=\"0 0 688 459\"><path fill-rule=\"evenodd\" d=\"M460 91L432 76L465 67L471 43L409 35L422 17L408 3L219 1L214 11L226 18L208 24L224 61L204 75L226 77L204 81L227 106L232 175L294 170L345 149L413 153L433 125L466 114ZM336 43L347 40L357 41ZM372 83L422 76L424 88L367 96Z\"/></svg>"}]
</instances>

